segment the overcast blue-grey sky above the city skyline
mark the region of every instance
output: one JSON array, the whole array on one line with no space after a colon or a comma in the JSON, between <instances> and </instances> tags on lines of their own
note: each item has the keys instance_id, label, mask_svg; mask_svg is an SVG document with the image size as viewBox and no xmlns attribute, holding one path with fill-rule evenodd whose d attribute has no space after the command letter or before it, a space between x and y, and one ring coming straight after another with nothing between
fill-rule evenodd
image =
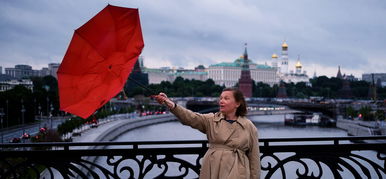
<instances>
[{"instance_id":1,"label":"overcast blue-grey sky above the city skyline","mask_svg":"<svg viewBox=\"0 0 386 179\"><path fill-rule=\"evenodd\" d=\"M139 8L145 66L194 68L244 52L271 64L285 40L308 75L386 72L384 0L2 0L0 66L60 63L75 29L111 5Z\"/></svg>"}]
</instances>

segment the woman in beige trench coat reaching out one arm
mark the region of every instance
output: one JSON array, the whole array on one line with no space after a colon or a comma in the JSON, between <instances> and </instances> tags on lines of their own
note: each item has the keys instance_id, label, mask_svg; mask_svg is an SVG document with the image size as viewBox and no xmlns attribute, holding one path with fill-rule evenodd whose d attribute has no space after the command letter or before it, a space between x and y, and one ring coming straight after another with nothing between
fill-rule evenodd
<instances>
[{"instance_id":1,"label":"woman in beige trench coat reaching out one arm","mask_svg":"<svg viewBox=\"0 0 386 179\"><path fill-rule=\"evenodd\" d=\"M247 107L240 90L225 88L219 100L220 111L214 114L192 112L164 93L155 98L158 103L166 104L182 124L206 134L209 150L203 159L201 179L260 178L257 129L245 117Z\"/></svg>"}]
</instances>

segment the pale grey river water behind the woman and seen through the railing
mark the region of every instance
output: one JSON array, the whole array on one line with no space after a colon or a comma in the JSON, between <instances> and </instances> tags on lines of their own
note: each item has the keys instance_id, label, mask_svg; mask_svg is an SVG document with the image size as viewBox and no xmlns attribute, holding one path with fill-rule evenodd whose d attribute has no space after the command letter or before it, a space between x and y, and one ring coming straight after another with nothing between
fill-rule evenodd
<instances>
[{"instance_id":1,"label":"pale grey river water behind the woman and seen through the railing","mask_svg":"<svg viewBox=\"0 0 386 179\"><path fill-rule=\"evenodd\" d=\"M304 137L342 137L347 136L346 131L338 128L326 128L318 126L295 127L284 125L284 115L266 115L266 116L249 116L249 119L258 128L259 138L304 138ZM155 119L156 120L156 119ZM116 139L116 141L167 141L167 140L206 140L206 136L198 130L192 129L189 126L184 126L178 121L155 124L151 126L141 127L128 131ZM319 142L321 143L321 142ZM365 154L366 157L374 158L375 152ZM279 154L278 156L281 156ZM184 160L194 163L194 157L183 156ZM135 166L135 162L128 162L126 165ZM262 163L264 165L264 163ZM178 164L171 164L168 173L181 173L178 171ZM316 166L315 166L316 167ZM290 171L286 173L287 178L295 178L295 171L299 168L296 164L288 167ZM287 168L287 169L288 169ZM300 166L300 168L302 168ZM312 169L314 167L311 167ZM314 168L317 170L316 168ZM173 171L174 170L174 171ZM153 168L148 177L157 176L161 169ZM262 176L266 171L262 172ZM326 178L333 177L331 173L327 173ZM352 178L349 173L343 174L344 178ZM374 175L375 176L375 175ZM195 178L197 176L189 174L186 178ZM281 174L277 172L274 178L281 178ZM365 177L365 176L364 176Z\"/></svg>"}]
</instances>

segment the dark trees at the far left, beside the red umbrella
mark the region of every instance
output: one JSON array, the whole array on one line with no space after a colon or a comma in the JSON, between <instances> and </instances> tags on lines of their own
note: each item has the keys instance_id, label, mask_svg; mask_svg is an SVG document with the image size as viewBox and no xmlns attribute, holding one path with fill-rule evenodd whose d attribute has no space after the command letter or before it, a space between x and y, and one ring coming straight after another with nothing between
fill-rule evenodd
<instances>
[{"instance_id":1,"label":"dark trees at the far left, beside the red umbrella","mask_svg":"<svg viewBox=\"0 0 386 179\"><path fill-rule=\"evenodd\" d=\"M18 85L0 92L0 109L3 110L3 127L35 120L36 115L58 115L58 83L53 76L32 77L33 90ZM24 109L24 110L23 110ZM23 112L22 112L23 111Z\"/></svg>"}]
</instances>

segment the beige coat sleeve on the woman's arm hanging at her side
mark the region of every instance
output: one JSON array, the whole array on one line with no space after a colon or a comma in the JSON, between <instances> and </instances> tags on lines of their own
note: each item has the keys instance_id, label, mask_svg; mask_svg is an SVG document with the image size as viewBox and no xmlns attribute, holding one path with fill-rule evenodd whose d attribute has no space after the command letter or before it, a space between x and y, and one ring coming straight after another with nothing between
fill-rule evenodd
<instances>
[{"instance_id":1,"label":"beige coat sleeve on the woman's arm hanging at her side","mask_svg":"<svg viewBox=\"0 0 386 179\"><path fill-rule=\"evenodd\" d=\"M248 151L251 179L260 178L260 149L258 133L255 126L251 127L250 149Z\"/></svg>"}]
</instances>

